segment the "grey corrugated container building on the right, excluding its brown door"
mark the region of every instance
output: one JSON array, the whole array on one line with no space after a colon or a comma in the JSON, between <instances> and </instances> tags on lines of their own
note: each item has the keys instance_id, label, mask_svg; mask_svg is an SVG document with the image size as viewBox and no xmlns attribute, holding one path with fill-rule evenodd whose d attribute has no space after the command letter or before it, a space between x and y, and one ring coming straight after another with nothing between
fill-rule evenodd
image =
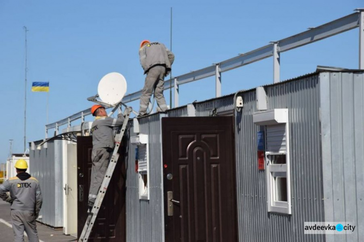
<instances>
[{"instance_id":1,"label":"grey corrugated container building on the right, excluding its brown door","mask_svg":"<svg viewBox=\"0 0 364 242\"><path fill-rule=\"evenodd\" d=\"M153 114L139 119L139 125L131 123L130 137L136 135L133 130L137 126L140 134L148 135L149 200L140 199L138 172L134 169L136 146L129 143L127 241L165 241L163 117L213 115L234 115L239 242L363 241L363 93L363 70L321 71L238 92L236 96L243 100L238 110L232 94ZM284 113L285 121L280 121L280 113ZM270 152L277 144L269 138L281 132L280 128L284 138L279 152ZM261 132L265 132L265 156L259 170ZM273 161L277 154L286 157L281 165L287 167L285 171L268 170L280 164ZM273 185L268 181L274 181L275 188L270 188ZM270 193L281 187L288 193ZM272 196L288 202L280 207ZM325 221L346 221L357 229L346 235L304 234L304 222Z\"/></svg>"}]
</instances>

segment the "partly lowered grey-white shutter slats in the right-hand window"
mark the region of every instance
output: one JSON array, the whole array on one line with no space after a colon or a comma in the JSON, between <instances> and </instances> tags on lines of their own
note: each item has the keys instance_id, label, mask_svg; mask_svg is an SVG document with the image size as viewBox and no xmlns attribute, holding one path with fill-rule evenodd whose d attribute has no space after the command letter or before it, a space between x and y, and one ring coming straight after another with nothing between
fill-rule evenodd
<instances>
[{"instance_id":1,"label":"partly lowered grey-white shutter slats in the right-hand window","mask_svg":"<svg viewBox=\"0 0 364 242\"><path fill-rule=\"evenodd\" d=\"M266 126L266 151L286 153L286 124Z\"/></svg>"}]
</instances>

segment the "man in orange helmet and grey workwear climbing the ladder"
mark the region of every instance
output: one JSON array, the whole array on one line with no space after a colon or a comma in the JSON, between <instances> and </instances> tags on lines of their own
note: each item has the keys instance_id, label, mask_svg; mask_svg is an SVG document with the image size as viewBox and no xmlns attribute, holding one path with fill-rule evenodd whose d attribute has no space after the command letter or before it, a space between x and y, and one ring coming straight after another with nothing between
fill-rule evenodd
<instances>
[{"instance_id":1,"label":"man in orange helmet and grey workwear climbing the ladder","mask_svg":"<svg viewBox=\"0 0 364 242\"><path fill-rule=\"evenodd\" d=\"M88 194L89 213L91 213L97 198L102 180L107 171L109 161L114 151L113 128L121 126L124 122L122 113L117 115L117 119L107 116L105 107L96 104L91 107L91 114L96 116L92 123L92 169L91 184Z\"/></svg>"}]
</instances>

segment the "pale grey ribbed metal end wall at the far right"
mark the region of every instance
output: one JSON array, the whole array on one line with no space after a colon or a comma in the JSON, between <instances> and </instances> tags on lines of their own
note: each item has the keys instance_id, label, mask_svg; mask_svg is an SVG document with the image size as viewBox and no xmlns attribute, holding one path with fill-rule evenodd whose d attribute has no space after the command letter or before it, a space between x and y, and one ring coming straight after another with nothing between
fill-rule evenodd
<instances>
[{"instance_id":1,"label":"pale grey ribbed metal end wall at the far right","mask_svg":"<svg viewBox=\"0 0 364 242\"><path fill-rule=\"evenodd\" d=\"M356 225L328 242L364 241L363 73L320 74L325 219Z\"/></svg>"}]
</instances>

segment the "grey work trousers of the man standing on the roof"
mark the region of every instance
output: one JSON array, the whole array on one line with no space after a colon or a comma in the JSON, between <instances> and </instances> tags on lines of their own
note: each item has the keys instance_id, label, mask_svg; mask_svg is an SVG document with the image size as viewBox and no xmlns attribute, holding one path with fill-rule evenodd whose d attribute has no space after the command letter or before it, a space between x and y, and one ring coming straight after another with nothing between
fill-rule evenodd
<instances>
[{"instance_id":1,"label":"grey work trousers of the man standing on the roof","mask_svg":"<svg viewBox=\"0 0 364 242\"><path fill-rule=\"evenodd\" d=\"M142 96L140 97L140 109L139 115L143 116L147 113L148 104L150 97L154 90L154 97L157 101L159 108L162 111L167 110L167 105L165 104L165 97L163 95L165 79L165 67L155 66L149 69L147 77L145 78L144 87L142 90Z\"/></svg>"}]
</instances>

